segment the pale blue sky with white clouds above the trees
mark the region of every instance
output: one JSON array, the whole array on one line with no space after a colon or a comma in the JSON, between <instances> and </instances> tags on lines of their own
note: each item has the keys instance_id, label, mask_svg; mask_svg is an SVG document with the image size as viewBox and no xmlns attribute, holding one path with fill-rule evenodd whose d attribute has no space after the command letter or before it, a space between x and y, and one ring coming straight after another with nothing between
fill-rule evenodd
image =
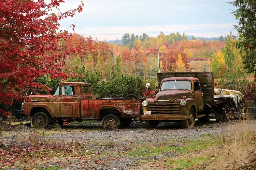
<instances>
[{"instance_id":1,"label":"pale blue sky with white clouds above the trees","mask_svg":"<svg viewBox=\"0 0 256 170\"><path fill-rule=\"evenodd\" d=\"M229 0L230 1L230 0ZM197 37L237 35L237 23L227 0L84 0L81 13L60 21L60 29L73 23L75 32L98 40L121 39L125 33L157 36L183 32ZM81 4L81 0L65 0L64 12ZM72 29L68 29L73 33Z\"/></svg>"}]
</instances>

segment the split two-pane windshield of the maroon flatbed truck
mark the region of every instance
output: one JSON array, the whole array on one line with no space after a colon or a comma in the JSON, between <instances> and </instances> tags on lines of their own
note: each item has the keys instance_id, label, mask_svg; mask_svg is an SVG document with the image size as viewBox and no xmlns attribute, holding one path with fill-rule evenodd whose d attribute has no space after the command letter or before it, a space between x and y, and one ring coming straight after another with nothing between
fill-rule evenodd
<instances>
[{"instance_id":1,"label":"split two-pane windshield of the maroon flatbed truck","mask_svg":"<svg viewBox=\"0 0 256 170\"><path fill-rule=\"evenodd\" d=\"M191 90L191 82L183 80L170 80L162 82L160 90L167 89L184 89Z\"/></svg>"}]
</instances>

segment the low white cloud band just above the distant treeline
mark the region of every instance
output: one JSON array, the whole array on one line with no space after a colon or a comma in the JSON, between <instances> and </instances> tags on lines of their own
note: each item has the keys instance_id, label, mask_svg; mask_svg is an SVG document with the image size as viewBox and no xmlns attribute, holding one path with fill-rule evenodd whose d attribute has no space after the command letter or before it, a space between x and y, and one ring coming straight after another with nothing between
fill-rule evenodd
<instances>
[{"instance_id":1,"label":"low white cloud band just above the distant treeline","mask_svg":"<svg viewBox=\"0 0 256 170\"><path fill-rule=\"evenodd\" d=\"M168 26L148 26L148 27L84 27L75 29L75 32L84 36L92 36L98 40L121 39L125 33L143 34L157 36L160 31L170 34L180 32L187 35L199 37L219 37L229 33L232 30L232 23L222 24L172 24ZM234 32L235 34L236 32Z\"/></svg>"}]
</instances>

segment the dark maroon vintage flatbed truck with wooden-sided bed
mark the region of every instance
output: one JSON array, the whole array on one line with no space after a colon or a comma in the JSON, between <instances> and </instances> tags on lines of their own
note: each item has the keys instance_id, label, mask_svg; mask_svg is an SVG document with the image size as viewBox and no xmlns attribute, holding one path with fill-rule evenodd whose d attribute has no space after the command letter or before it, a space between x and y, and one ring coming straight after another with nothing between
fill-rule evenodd
<instances>
[{"instance_id":1,"label":"dark maroon vintage flatbed truck with wooden-sided bed","mask_svg":"<svg viewBox=\"0 0 256 170\"><path fill-rule=\"evenodd\" d=\"M158 73L157 78L155 99L142 102L140 120L147 128L156 128L159 121L179 121L183 128L192 128L196 118L208 121L211 113L215 113L217 121L229 121L241 108L232 97L214 94L212 72ZM236 93L243 97L241 92Z\"/></svg>"}]
</instances>

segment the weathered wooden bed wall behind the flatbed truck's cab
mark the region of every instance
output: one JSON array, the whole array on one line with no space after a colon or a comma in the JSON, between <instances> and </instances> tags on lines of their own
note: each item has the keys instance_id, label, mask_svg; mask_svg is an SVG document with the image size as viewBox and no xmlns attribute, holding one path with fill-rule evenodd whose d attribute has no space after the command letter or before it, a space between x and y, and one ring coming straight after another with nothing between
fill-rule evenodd
<instances>
[{"instance_id":1,"label":"weathered wooden bed wall behind the flatbed truck's cab","mask_svg":"<svg viewBox=\"0 0 256 170\"><path fill-rule=\"evenodd\" d=\"M162 79L168 77L195 77L200 81L200 86L207 85L206 88L202 88L204 96L204 104L214 105L214 80L213 72L168 72L157 73L158 90Z\"/></svg>"}]
</instances>

